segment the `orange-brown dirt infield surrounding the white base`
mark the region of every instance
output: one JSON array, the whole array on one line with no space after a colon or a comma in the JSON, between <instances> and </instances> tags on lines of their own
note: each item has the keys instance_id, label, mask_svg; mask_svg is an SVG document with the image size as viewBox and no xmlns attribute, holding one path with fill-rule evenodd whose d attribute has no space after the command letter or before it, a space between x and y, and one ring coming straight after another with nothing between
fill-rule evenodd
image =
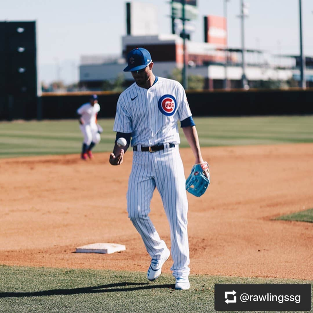
<instances>
[{"instance_id":1,"label":"orange-brown dirt infield surrounding the white base","mask_svg":"<svg viewBox=\"0 0 313 313\"><path fill-rule=\"evenodd\" d=\"M313 279L313 224L274 221L313 207L313 144L203 148L211 185L188 194L191 274ZM188 175L192 151L181 149ZM132 152L0 159L0 264L146 271L150 257L126 213ZM151 219L170 246L155 192ZM95 242L114 254L74 253ZM170 273L172 260L164 265Z\"/></svg>"}]
</instances>

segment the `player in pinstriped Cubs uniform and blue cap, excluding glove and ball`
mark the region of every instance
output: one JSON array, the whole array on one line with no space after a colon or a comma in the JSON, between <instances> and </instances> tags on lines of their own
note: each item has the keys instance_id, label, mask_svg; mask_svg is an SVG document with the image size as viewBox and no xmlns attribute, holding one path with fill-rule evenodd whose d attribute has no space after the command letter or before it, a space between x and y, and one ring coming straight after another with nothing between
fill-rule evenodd
<instances>
[{"instance_id":1,"label":"player in pinstriped Cubs uniform and blue cap, excluding glove and ball","mask_svg":"<svg viewBox=\"0 0 313 313\"><path fill-rule=\"evenodd\" d=\"M113 130L117 132L109 162L120 165L129 145L133 147L132 170L128 182L128 217L140 233L151 264L148 280L155 280L172 254L175 288L189 289L189 245L187 236L187 195L184 168L179 154L177 121L192 148L195 163L204 163L198 134L192 120L185 90L175 80L156 77L148 50L136 48L127 55L135 82L121 93ZM124 148L116 144L124 137ZM157 188L170 224L171 253L160 239L148 214L152 194Z\"/></svg>"}]
</instances>

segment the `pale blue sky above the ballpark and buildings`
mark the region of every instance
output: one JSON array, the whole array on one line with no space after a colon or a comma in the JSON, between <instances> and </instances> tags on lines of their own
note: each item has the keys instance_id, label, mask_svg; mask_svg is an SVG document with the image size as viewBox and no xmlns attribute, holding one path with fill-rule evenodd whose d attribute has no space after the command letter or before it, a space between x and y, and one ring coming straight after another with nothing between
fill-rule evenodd
<instances>
[{"instance_id":1,"label":"pale blue sky above the ballpark and buildings","mask_svg":"<svg viewBox=\"0 0 313 313\"><path fill-rule=\"evenodd\" d=\"M0 4L0 20L36 20L39 79L46 83L59 76L78 80L83 54L119 54L126 34L125 0L10 0ZM169 1L153 3L158 10L159 33L171 32ZM246 0L245 45L272 53L299 54L299 0ZM224 0L197 0L199 17L192 40L203 41L203 16L223 16ZM240 0L230 0L228 45L241 46ZM313 56L313 1L302 0L304 53Z\"/></svg>"}]
</instances>

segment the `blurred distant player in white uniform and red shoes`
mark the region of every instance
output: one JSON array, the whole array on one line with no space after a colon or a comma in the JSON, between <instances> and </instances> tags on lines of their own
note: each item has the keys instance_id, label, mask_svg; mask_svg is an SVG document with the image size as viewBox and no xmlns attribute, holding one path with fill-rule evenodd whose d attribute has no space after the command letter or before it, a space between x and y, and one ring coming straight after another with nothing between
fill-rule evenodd
<instances>
[{"instance_id":1,"label":"blurred distant player in white uniform and red shoes","mask_svg":"<svg viewBox=\"0 0 313 313\"><path fill-rule=\"evenodd\" d=\"M83 133L84 141L81 151L81 158L87 160L93 158L91 149L100 142L101 126L97 123L97 114L100 111L98 96L91 95L89 102L77 109L79 115L80 130Z\"/></svg>"}]
</instances>

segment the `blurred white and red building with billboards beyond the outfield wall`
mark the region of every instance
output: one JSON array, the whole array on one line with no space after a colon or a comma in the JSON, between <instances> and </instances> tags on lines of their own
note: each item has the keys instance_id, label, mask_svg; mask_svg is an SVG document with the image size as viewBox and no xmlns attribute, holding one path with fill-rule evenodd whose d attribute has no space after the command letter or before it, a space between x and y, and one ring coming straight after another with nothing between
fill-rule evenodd
<instances>
[{"instance_id":1,"label":"blurred white and red building with billboards beyond the outfield wall","mask_svg":"<svg viewBox=\"0 0 313 313\"><path fill-rule=\"evenodd\" d=\"M180 0L175 0L172 3L177 5L179 2ZM195 4L195 1L190 4ZM148 14L142 14L143 12L149 12L151 16L141 20L142 16L148 16ZM175 69L182 69L183 39L179 30L176 31L177 33L166 35L157 33L156 12L155 6L151 4L126 3L127 35L122 37L121 54L111 58L82 56L79 68L80 88L102 90L103 81L115 80L122 74L126 80L126 86L130 85L133 82L132 76L130 73L123 72L123 69L127 65L125 60L127 53L136 47L144 47L150 51L154 62L153 72L157 76L172 77ZM195 12L192 11L192 13ZM174 32L173 29L172 32ZM230 88L241 88L242 50L227 47L226 18L205 16L203 33L203 42L192 40L186 42L187 76L203 78L202 85L199 85L198 89L221 89L225 79L228 80ZM245 74L251 88L269 87L269 82L274 81L299 80L300 69L297 56L270 55L253 49L246 49L245 54ZM309 62L309 59L307 60ZM307 66L306 80L307 86L313 86L313 66Z\"/></svg>"}]
</instances>

